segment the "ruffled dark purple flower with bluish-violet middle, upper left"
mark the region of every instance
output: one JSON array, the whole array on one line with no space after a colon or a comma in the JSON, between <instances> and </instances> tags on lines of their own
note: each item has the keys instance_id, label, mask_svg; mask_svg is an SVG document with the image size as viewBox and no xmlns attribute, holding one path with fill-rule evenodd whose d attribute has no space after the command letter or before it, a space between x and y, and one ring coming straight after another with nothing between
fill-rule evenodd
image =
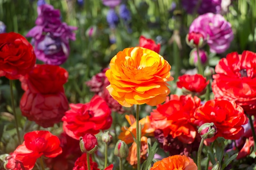
<instances>
[{"instance_id":1,"label":"ruffled dark purple flower with bluish-violet middle, upper left","mask_svg":"<svg viewBox=\"0 0 256 170\"><path fill-rule=\"evenodd\" d=\"M49 4L38 7L36 26L27 37L32 37L32 44L38 60L45 64L61 65L69 56L69 40L76 40L77 28L61 22L61 13Z\"/></svg>"}]
</instances>

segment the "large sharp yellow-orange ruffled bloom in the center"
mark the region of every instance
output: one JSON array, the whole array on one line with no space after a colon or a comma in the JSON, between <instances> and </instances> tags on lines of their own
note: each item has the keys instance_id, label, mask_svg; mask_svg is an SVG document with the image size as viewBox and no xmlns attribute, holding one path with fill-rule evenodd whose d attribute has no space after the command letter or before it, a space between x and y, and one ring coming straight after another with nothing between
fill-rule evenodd
<instances>
[{"instance_id":1,"label":"large sharp yellow-orange ruffled bloom in the center","mask_svg":"<svg viewBox=\"0 0 256 170\"><path fill-rule=\"evenodd\" d=\"M143 47L126 48L110 61L106 71L110 95L122 106L148 104L156 106L170 93L167 81L171 66L155 51Z\"/></svg>"}]
</instances>

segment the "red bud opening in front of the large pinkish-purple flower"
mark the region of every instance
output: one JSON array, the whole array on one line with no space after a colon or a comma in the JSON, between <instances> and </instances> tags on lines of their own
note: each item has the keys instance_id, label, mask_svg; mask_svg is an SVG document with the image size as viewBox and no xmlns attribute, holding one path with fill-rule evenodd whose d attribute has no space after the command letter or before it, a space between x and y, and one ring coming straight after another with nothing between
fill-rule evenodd
<instances>
[{"instance_id":1,"label":"red bud opening in front of the large pinkish-purple flower","mask_svg":"<svg viewBox=\"0 0 256 170\"><path fill-rule=\"evenodd\" d=\"M205 43L206 41L204 40L204 35L201 33L191 32L186 35L186 44L188 44L191 48L201 48Z\"/></svg>"}]
</instances>

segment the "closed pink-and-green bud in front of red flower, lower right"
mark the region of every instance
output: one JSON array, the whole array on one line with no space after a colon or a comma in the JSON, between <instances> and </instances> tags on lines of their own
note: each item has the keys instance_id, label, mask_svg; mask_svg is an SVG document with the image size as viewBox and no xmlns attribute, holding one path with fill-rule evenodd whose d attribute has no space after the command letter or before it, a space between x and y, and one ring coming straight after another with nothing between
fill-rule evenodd
<instances>
[{"instance_id":1,"label":"closed pink-and-green bud in front of red flower, lower right","mask_svg":"<svg viewBox=\"0 0 256 170\"><path fill-rule=\"evenodd\" d=\"M202 139L209 139L216 135L217 128L213 123L205 123L198 128L198 133Z\"/></svg>"}]
</instances>

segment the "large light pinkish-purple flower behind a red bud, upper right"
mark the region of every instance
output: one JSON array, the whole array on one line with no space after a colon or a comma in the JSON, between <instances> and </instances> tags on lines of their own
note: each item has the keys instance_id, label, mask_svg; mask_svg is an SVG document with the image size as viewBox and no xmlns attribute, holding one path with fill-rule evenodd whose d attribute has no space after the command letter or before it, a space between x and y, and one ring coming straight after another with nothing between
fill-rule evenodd
<instances>
[{"instance_id":1,"label":"large light pinkish-purple flower behind a red bud, upper right","mask_svg":"<svg viewBox=\"0 0 256 170\"><path fill-rule=\"evenodd\" d=\"M192 22L189 33L201 33L207 37L207 44L212 53L223 53L234 38L231 24L220 14L206 13Z\"/></svg>"}]
</instances>

